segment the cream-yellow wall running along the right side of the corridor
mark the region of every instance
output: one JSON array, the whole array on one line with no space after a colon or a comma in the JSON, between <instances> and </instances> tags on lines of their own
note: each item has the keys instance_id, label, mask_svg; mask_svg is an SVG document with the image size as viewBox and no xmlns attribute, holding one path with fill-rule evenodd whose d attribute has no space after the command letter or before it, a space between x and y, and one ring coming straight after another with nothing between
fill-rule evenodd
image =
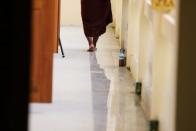
<instances>
[{"instance_id":1,"label":"cream-yellow wall running along the right side of the corridor","mask_svg":"<svg viewBox=\"0 0 196 131\"><path fill-rule=\"evenodd\" d=\"M116 35L123 38L122 1L116 0ZM175 131L177 18L154 10L151 0L129 0L127 66L142 82L142 107L159 131Z\"/></svg>"}]
</instances>

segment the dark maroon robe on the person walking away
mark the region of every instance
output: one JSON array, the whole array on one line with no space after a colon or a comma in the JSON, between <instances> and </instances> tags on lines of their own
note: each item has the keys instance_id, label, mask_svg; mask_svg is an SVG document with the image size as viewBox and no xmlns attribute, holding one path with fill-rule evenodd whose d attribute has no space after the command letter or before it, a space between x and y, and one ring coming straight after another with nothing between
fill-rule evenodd
<instances>
[{"instance_id":1,"label":"dark maroon robe on the person walking away","mask_svg":"<svg viewBox=\"0 0 196 131\"><path fill-rule=\"evenodd\" d=\"M81 0L81 16L87 37L102 35L106 32L106 26L112 22L110 0Z\"/></svg>"}]
</instances>

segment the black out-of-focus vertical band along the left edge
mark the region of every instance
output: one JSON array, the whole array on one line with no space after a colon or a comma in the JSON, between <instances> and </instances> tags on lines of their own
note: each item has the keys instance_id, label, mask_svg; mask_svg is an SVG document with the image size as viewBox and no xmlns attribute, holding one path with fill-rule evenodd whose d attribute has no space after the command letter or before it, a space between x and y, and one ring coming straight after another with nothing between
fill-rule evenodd
<instances>
[{"instance_id":1,"label":"black out-of-focus vertical band along the left edge","mask_svg":"<svg viewBox=\"0 0 196 131\"><path fill-rule=\"evenodd\" d=\"M1 17L1 131L28 130L31 0L4 1Z\"/></svg>"}]
</instances>

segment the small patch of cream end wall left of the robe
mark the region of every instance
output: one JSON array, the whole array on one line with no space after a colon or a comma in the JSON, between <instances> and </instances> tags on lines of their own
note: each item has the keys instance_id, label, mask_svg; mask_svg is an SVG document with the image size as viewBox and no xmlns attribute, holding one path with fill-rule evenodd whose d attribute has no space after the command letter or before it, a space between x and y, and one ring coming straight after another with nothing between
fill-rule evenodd
<instances>
[{"instance_id":1,"label":"small patch of cream end wall left of the robe","mask_svg":"<svg viewBox=\"0 0 196 131\"><path fill-rule=\"evenodd\" d=\"M81 0L61 0L61 26L82 25Z\"/></svg>"}]
</instances>

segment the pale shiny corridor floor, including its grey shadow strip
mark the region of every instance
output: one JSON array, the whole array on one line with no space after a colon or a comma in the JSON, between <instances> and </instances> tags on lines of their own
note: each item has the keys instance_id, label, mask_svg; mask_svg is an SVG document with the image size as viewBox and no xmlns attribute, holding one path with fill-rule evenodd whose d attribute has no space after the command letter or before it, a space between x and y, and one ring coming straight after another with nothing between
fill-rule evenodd
<instances>
[{"instance_id":1,"label":"pale shiny corridor floor, including its grey shadow strip","mask_svg":"<svg viewBox=\"0 0 196 131\"><path fill-rule=\"evenodd\" d=\"M119 44L113 29L86 51L81 27L62 27L61 52L54 55L53 103L30 104L30 131L148 131L134 94L134 81L118 67Z\"/></svg>"}]
</instances>

